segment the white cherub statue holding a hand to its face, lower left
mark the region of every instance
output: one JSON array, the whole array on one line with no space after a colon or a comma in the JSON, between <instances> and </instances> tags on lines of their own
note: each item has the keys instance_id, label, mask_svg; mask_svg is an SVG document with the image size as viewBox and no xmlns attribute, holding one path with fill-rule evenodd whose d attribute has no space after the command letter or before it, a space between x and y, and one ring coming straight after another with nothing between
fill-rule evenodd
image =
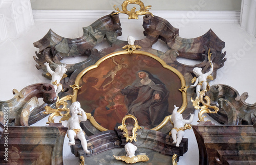
<instances>
[{"instance_id":1,"label":"white cherub statue holding a hand to its face, lower left","mask_svg":"<svg viewBox=\"0 0 256 165\"><path fill-rule=\"evenodd\" d=\"M83 151L87 154L90 153L87 149L87 141L86 137L84 136L84 132L82 128L80 127L80 121L86 121L87 115L86 112L81 109L81 105L79 102L74 102L70 106L70 112L72 113L72 116L68 120L68 137L69 137L69 146L75 145L75 138L78 138L81 140L81 145L83 148ZM81 115L78 115L81 114Z\"/></svg>"}]
</instances>

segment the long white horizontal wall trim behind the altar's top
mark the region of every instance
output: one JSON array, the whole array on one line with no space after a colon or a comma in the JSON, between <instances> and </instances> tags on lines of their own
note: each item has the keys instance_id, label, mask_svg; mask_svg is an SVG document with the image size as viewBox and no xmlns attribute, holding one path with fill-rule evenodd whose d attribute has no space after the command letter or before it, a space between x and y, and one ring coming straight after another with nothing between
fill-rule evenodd
<instances>
[{"instance_id":1,"label":"long white horizontal wall trim behind the altar's top","mask_svg":"<svg viewBox=\"0 0 256 165\"><path fill-rule=\"evenodd\" d=\"M112 11L89 10L32 10L34 21L92 21ZM232 22L239 23L240 11L151 11L168 21ZM120 21L128 21L126 14L119 14ZM139 16L139 20L143 16ZM133 19L137 21L136 19Z\"/></svg>"}]
</instances>

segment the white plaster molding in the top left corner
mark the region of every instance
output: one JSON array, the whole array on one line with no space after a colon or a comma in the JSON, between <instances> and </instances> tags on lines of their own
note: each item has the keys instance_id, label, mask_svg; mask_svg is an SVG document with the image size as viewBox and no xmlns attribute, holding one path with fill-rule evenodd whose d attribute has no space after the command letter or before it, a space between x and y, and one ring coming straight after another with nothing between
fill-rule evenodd
<instances>
[{"instance_id":1,"label":"white plaster molding in the top left corner","mask_svg":"<svg viewBox=\"0 0 256 165\"><path fill-rule=\"evenodd\" d=\"M0 41L15 38L34 23L30 0L0 1Z\"/></svg>"}]
</instances>

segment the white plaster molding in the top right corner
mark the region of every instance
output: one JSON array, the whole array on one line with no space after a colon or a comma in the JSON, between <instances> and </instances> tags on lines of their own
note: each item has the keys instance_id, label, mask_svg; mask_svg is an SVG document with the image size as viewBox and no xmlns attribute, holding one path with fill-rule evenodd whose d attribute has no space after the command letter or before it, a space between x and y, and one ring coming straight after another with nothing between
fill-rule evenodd
<instances>
[{"instance_id":1,"label":"white plaster molding in the top right corner","mask_svg":"<svg viewBox=\"0 0 256 165\"><path fill-rule=\"evenodd\" d=\"M256 35L256 0L242 0L240 26Z\"/></svg>"}]
</instances>

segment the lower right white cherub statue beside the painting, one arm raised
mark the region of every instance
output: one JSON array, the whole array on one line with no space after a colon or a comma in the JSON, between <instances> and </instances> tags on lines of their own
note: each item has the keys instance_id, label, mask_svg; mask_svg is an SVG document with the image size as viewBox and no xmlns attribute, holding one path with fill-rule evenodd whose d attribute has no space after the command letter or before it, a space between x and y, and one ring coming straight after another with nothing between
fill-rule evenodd
<instances>
[{"instance_id":1,"label":"lower right white cherub statue beside the painting, one arm raised","mask_svg":"<svg viewBox=\"0 0 256 165\"><path fill-rule=\"evenodd\" d=\"M172 114L172 122L174 124L174 128L169 133L169 135L172 134L174 140L173 144L176 143L176 147L180 146L181 140L185 134L184 130L191 129L190 123L193 122L195 115L190 113L189 120L184 120L182 114L177 112L178 108L179 107L176 107L176 105L174 105L174 110Z\"/></svg>"}]
</instances>

